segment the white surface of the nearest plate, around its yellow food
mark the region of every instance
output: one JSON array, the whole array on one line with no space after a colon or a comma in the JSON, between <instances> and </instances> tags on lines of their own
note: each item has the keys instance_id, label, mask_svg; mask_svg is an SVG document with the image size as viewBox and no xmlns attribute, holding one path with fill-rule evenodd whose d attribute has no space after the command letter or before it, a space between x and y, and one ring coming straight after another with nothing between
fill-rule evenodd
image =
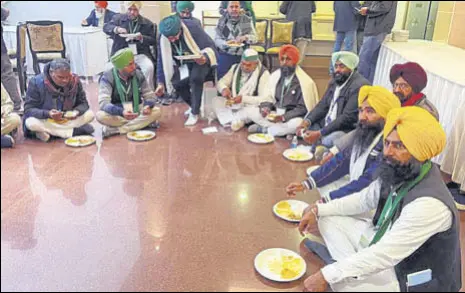
<instances>
[{"instance_id":1,"label":"white surface of the nearest plate, around its yellow food","mask_svg":"<svg viewBox=\"0 0 465 293\"><path fill-rule=\"evenodd\" d=\"M292 257L299 260L299 271L295 277L283 278L279 270L279 263L282 263L282 257ZM307 272L305 260L294 251L283 248L272 248L260 252L254 261L255 270L263 277L275 282L293 282ZM275 268L271 268L271 267Z\"/></svg>"}]
</instances>

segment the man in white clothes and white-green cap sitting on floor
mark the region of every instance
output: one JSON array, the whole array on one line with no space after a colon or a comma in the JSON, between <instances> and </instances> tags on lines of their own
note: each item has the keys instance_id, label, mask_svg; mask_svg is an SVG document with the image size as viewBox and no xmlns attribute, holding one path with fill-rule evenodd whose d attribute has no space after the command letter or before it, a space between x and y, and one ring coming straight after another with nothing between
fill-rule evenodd
<instances>
[{"instance_id":1,"label":"man in white clothes and white-green cap sitting on floor","mask_svg":"<svg viewBox=\"0 0 465 293\"><path fill-rule=\"evenodd\" d=\"M270 73L262 65L257 51L245 50L240 64L233 65L218 82L221 97L213 100L213 108L221 125L231 125L233 131L242 129L249 122L248 108L273 102L268 82ZM239 109L234 107L239 107ZM234 108L234 109L233 109Z\"/></svg>"}]
</instances>

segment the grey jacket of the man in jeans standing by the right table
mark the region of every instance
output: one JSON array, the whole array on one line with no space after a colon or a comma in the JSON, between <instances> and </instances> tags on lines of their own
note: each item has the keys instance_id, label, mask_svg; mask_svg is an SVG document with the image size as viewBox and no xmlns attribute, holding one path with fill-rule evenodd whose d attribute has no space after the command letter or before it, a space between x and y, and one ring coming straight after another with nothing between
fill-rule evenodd
<instances>
[{"instance_id":1,"label":"grey jacket of the man in jeans standing by the right table","mask_svg":"<svg viewBox=\"0 0 465 293\"><path fill-rule=\"evenodd\" d=\"M396 21L397 1L372 1L367 7L365 36L390 34Z\"/></svg>"}]
</instances>

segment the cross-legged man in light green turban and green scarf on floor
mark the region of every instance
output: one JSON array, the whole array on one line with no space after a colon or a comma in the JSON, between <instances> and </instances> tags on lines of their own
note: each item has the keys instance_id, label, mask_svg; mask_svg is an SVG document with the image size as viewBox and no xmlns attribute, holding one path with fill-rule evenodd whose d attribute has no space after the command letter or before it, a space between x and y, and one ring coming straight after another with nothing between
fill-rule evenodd
<instances>
[{"instance_id":1,"label":"cross-legged man in light green turban and green scarf on floor","mask_svg":"<svg viewBox=\"0 0 465 293\"><path fill-rule=\"evenodd\" d=\"M113 69L106 71L99 83L97 121L104 125L104 138L143 129L161 117L160 109L154 108L155 94L136 68L132 50L121 49L111 62Z\"/></svg>"}]
</instances>

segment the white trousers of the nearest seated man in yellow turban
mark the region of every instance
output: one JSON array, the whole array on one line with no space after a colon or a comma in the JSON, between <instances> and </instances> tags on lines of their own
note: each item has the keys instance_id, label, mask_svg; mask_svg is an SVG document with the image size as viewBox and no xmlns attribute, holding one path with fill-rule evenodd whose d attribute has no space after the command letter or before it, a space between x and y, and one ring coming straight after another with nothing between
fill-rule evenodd
<instances>
[{"instance_id":1,"label":"white trousers of the nearest seated man in yellow turban","mask_svg":"<svg viewBox=\"0 0 465 293\"><path fill-rule=\"evenodd\" d=\"M371 220L365 217L321 217L318 221L321 236L334 260L343 260L363 249L359 244L363 234L374 234ZM364 233L369 231L368 233ZM394 268L363 278L347 278L331 284L335 292L400 292Z\"/></svg>"}]
</instances>

